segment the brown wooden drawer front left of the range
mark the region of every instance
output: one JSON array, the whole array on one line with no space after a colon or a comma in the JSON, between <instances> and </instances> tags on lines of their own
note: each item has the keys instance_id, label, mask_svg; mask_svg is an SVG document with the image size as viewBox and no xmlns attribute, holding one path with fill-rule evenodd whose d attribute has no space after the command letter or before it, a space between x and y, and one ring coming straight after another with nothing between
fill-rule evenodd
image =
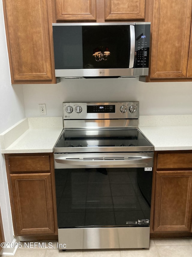
<instances>
[{"instance_id":1,"label":"brown wooden drawer front left of the range","mask_svg":"<svg viewBox=\"0 0 192 257\"><path fill-rule=\"evenodd\" d=\"M50 171L49 155L9 156L8 164L10 173L19 171Z\"/></svg>"}]
</instances>

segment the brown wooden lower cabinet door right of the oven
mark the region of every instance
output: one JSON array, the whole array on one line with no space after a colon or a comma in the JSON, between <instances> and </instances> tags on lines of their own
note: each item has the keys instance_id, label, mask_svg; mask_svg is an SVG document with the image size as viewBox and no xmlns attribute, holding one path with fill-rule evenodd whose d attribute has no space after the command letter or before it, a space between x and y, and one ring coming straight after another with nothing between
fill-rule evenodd
<instances>
[{"instance_id":1,"label":"brown wooden lower cabinet door right of the oven","mask_svg":"<svg viewBox=\"0 0 192 257\"><path fill-rule=\"evenodd\" d=\"M192 171L157 171L154 231L191 230Z\"/></svg>"}]
</instances>

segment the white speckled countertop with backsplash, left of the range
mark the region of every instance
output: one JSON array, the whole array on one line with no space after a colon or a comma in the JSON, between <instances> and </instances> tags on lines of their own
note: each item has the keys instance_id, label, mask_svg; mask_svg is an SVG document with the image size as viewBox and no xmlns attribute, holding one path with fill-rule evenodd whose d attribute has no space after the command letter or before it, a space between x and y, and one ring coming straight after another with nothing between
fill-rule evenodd
<instances>
[{"instance_id":1,"label":"white speckled countertop with backsplash, left of the range","mask_svg":"<svg viewBox=\"0 0 192 257\"><path fill-rule=\"evenodd\" d=\"M1 133L1 153L53 152L62 130L62 117L25 118Z\"/></svg>"}]
</instances>

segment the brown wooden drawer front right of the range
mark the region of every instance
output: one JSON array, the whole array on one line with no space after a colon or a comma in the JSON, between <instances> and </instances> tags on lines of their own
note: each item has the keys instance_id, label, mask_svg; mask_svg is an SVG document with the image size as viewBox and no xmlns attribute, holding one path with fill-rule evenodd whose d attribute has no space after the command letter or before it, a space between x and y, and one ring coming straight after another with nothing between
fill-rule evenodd
<instances>
[{"instance_id":1,"label":"brown wooden drawer front right of the range","mask_svg":"<svg viewBox=\"0 0 192 257\"><path fill-rule=\"evenodd\" d=\"M159 153L157 169L192 168L192 153Z\"/></svg>"}]
</instances>

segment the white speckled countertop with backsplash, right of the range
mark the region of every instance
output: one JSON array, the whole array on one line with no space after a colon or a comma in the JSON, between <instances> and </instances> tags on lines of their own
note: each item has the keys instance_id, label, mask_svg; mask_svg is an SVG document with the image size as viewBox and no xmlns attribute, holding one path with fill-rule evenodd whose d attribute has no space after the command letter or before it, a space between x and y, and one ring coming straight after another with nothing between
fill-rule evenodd
<instances>
[{"instance_id":1,"label":"white speckled countertop with backsplash, right of the range","mask_svg":"<svg viewBox=\"0 0 192 257\"><path fill-rule=\"evenodd\" d=\"M140 116L139 129L155 151L192 150L192 115Z\"/></svg>"}]
</instances>

